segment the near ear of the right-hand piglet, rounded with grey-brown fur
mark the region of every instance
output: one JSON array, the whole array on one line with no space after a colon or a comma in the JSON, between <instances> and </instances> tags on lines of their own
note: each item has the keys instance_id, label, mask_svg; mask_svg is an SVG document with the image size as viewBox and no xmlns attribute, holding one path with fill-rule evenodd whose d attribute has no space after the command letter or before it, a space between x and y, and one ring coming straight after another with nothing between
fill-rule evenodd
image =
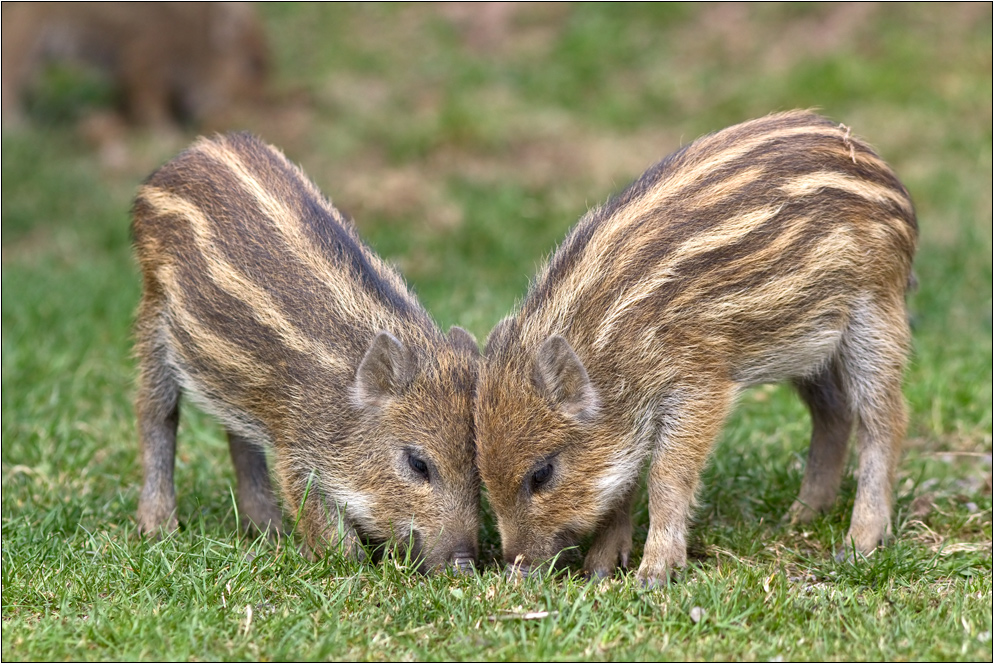
<instances>
[{"instance_id":1,"label":"near ear of the right-hand piglet, rounded with grey-brown fur","mask_svg":"<svg viewBox=\"0 0 994 664\"><path fill-rule=\"evenodd\" d=\"M535 385L553 406L573 419L597 413L597 390L573 347L558 334L542 342L535 358Z\"/></svg>"}]
</instances>

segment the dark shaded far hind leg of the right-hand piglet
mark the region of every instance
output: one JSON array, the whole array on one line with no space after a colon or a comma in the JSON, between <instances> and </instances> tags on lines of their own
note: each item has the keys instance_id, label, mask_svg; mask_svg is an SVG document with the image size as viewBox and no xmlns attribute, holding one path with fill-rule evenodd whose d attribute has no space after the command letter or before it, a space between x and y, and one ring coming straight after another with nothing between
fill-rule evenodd
<instances>
[{"instance_id":1,"label":"dark shaded far hind leg of the right-hand piglet","mask_svg":"<svg viewBox=\"0 0 994 664\"><path fill-rule=\"evenodd\" d=\"M797 500L787 513L791 523L807 523L831 508L846 464L853 415L833 362L818 375L795 382L811 412L811 447Z\"/></svg>"}]
</instances>

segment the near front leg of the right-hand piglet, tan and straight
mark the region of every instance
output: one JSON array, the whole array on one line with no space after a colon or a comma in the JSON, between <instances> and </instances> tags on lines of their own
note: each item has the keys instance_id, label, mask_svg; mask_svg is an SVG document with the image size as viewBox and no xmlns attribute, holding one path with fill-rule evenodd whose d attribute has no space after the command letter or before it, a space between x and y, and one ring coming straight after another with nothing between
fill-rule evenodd
<instances>
[{"instance_id":1,"label":"near front leg of the right-hand piglet, tan and straight","mask_svg":"<svg viewBox=\"0 0 994 664\"><path fill-rule=\"evenodd\" d=\"M649 467L649 536L638 578L665 583L687 564L687 522L708 454L734 401L735 386L700 390L674 400L660 413L656 449Z\"/></svg>"}]
</instances>

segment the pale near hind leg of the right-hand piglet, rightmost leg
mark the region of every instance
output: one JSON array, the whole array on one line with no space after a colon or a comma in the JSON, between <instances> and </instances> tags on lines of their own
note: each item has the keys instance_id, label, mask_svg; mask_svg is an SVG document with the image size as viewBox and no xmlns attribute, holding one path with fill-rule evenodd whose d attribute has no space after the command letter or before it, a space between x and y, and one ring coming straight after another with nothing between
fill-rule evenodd
<instances>
[{"instance_id":1,"label":"pale near hind leg of the right-hand piglet, rightmost leg","mask_svg":"<svg viewBox=\"0 0 994 664\"><path fill-rule=\"evenodd\" d=\"M858 418L859 478L840 557L869 555L891 535L894 473L907 427L901 380L909 336L902 298L866 304L843 339L843 376Z\"/></svg>"}]
</instances>

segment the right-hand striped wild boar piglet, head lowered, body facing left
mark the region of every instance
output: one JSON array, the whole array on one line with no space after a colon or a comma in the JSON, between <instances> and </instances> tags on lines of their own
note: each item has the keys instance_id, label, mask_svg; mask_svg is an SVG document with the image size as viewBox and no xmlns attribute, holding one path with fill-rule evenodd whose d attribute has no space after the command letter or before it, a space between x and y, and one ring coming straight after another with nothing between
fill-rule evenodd
<instances>
[{"instance_id":1,"label":"right-hand striped wild boar piglet, head lowered, body facing left","mask_svg":"<svg viewBox=\"0 0 994 664\"><path fill-rule=\"evenodd\" d=\"M916 241L890 168L847 127L802 111L705 136L588 213L487 341L478 463L505 559L535 564L595 532L588 571L624 565L651 457L639 575L682 565L726 415L744 387L779 381L814 421L792 516L834 501L855 423L849 541L872 551L889 532L905 428Z\"/></svg>"}]
</instances>

